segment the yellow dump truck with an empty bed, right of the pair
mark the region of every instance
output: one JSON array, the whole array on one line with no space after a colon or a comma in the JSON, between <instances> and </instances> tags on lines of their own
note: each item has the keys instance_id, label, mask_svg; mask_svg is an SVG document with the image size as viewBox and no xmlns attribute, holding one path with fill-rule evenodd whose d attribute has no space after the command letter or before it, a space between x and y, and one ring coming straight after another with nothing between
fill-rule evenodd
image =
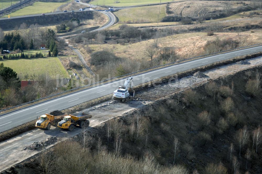
<instances>
[{"instance_id":1,"label":"yellow dump truck with an empty bed, right of the pair","mask_svg":"<svg viewBox=\"0 0 262 174\"><path fill-rule=\"evenodd\" d=\"M68 129L69 131L73 131L74 127L79 125L80 128L89 126L89 118L92 118L92 115L80 112L75 113L69 116L65 116L62 121L58 123L58 127L62 129Z\"/></svg>"}]
</instances>

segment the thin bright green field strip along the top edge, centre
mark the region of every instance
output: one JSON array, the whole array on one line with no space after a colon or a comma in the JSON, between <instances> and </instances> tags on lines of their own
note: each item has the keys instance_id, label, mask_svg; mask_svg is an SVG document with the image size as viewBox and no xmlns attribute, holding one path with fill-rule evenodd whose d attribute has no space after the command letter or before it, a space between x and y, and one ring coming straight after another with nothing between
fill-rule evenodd
<instances>
[{"instance_id":1,"label":"thin bright green field strip along the top edge, centre","mask_svg":"<svg viewBox=\"0 0 262 174\"><path fill-rule=\"evenodd\" d=\"M135 6L142 4L152 4L152 3L160 3L159 0L118 0L119 3L115 3L116 0L95 0L91 1L91 4L94 5L108 5L108 6ZM161 2L173 2L173 0L161 0Z\"/></svg>"}]
</instances>

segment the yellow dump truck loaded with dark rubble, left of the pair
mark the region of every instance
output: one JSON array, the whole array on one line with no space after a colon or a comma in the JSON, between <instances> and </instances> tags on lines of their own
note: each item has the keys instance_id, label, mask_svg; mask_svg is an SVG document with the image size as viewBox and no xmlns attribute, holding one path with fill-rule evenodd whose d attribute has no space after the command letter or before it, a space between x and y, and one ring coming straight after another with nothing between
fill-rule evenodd
<instances>
[{"instance_id":1,"label":"yellow dump truck loaded with dark rubble, left of the pair","mask_svg":"<svg viewBox=\"0 0 262 174\"><path fill-rule=\"evenodd\" d=\"M58 122L61 121L64 118L64 116L67 116L67 114L53 116L46 113L45 115L37 117L38 120L35 123L35 127L45 128L46 130L49 130L51 128L51 124L57 126Z\"/></svg>"}]
</instances>

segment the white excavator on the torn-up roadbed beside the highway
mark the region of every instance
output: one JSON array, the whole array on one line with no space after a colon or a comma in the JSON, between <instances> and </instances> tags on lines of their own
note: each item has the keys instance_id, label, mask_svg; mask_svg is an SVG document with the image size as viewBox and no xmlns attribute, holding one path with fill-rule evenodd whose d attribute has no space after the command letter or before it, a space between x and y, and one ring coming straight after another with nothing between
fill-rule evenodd
<instances>
[{"instance_id":1,"label":"white excavator on the torn-up roadbed beside the highway","mask_svg":"<svg viewBox=\"0 0 262 174\"><path fill-rule=\"evenodd\" d=\"M129 77L125 80L125 84L118 87L117 90L114 91L112 100L120 100L121 102L126 102L130 99L134 98L135 91L132 90L133 77Z\"/></svg>"}]
</instances>

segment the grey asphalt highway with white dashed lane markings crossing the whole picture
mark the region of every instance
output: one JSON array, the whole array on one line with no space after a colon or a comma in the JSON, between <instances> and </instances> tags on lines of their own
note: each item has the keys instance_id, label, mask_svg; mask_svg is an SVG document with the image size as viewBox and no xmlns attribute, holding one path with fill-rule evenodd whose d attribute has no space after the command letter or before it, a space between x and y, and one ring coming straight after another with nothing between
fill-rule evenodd
<instances>
[{"instance_id":1,"label":"grey asphalt highway with white dashed lane markings crossing the whole picture","mask_svg":"<svg viewBox=\"0 0 262 174\"><path fill-rule=\"evenodd\" d=\"M215 56L204 57L185 63L164 67L157 70L152 70L150 72L145 72L134 76L133 84L137 85L145 83L150 80L165 77L167 75L176 74L192 68L261 51L262 46L257 46L253 48L246 48L243 50L223 53ZM125 78L119 79L110 83L63 95L54 99L50 99L48 101L41 102L39 104L31 105L26 108L18 109L7 114L3 114L0 116L0 132L16 127L28 121L34 120L37 116L43 115L45 113L49 113L54 110L62 110L64 108L77 105L81 102L113 93L113 91L117 89L119 85L122 85L124 81Z\"/></svg>"}]
</instances>

